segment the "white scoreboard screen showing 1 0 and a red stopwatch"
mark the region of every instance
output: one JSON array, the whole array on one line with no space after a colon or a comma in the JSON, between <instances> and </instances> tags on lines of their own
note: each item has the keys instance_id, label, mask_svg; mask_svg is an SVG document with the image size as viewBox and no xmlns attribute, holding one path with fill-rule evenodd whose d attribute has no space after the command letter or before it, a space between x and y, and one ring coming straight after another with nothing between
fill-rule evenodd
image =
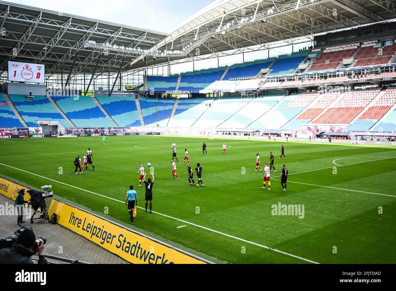
<instances>
[{"instance_id":1,"label":"white scoreboard screen showing 1 0 and a red stopwatch","mask_svg":"<svg viewBox=\"0 0 396 291\"><path fill-rule=\"evenodd\" d=\"M8 81L45 83L45 66L8 61Z\"/></svg>"}]
</instances>

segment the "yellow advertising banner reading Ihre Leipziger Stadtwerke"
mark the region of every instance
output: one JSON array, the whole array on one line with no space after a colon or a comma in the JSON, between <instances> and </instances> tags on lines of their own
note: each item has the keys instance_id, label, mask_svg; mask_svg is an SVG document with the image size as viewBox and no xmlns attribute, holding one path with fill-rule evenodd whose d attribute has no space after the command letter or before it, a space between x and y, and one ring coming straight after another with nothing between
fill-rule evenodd
<instances>
[{"instance_id":1,"label":"yellow advertising banner reading Ihre Leipziger Stadtwerke","mask_svg":"<svg viewBox=\"0 0 396 291\"><path fill-rule=\"evenodd\" d=\"M181 249L135 232L125 226L53 199L49 216L57 214L57 223L84 236L134 264L207 264Z\"/></svg>"}]
</instances>

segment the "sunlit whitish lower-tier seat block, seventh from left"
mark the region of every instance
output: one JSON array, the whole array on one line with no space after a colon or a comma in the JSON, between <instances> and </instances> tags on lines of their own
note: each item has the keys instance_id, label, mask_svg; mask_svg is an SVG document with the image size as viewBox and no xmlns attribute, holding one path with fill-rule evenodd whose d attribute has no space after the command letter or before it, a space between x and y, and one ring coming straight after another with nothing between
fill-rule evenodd
<instances>
[{"instance_id":1,"label":"sunlit whitish lower-tier seat block, seventh from left","mask_svg":"<svg viewBox=\"0 0 396 291\"><path fill-rule=\"evenodd\" d=\"M217 127L227 118L244 107L251 99L223 97L213 102L211 107L197 120L195 126ZM223 126L220 126L223 127Z\"/></svg>"}]
</instances>

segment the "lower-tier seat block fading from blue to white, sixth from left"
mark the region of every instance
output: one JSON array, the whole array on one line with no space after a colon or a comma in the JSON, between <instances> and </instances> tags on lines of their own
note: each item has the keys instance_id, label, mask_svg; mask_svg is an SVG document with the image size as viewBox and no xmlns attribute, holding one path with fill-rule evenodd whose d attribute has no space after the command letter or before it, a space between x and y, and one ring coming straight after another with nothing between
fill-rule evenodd
<instances>
[{"instance_id":1,"label":"lower-tier seat block fading from blue to white, sixth from left","mask_svg":"<svg viewBox=\"0 0 396 291\"><path fill-rule=\"evenodd\" d=\"M179 99L175 115L169 121L170 127L190 127L208 109L213 98ZM214 127L214 126L213 126Z\"/></svg>"}]
</instances>

